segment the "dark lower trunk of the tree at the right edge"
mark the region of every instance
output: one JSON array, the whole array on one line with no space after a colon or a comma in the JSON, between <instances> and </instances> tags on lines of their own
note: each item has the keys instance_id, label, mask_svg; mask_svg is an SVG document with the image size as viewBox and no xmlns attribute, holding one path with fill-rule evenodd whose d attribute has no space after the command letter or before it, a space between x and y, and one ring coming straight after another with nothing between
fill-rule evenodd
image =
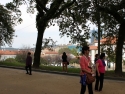
<instances>
[{"instance_id":1,"label":"dark lower trunk of the tree at the right edge","mask_svg":"<svg viewBox=\"0 0 125 94\"><path fill-rule=\"evenodd\" d=\"M118 33L118 41L116 47L116 67L115 73L116 75L122 75L122 49L125 37L125 22L120 25L119 33Z\"/></svg>"}]
</instances>

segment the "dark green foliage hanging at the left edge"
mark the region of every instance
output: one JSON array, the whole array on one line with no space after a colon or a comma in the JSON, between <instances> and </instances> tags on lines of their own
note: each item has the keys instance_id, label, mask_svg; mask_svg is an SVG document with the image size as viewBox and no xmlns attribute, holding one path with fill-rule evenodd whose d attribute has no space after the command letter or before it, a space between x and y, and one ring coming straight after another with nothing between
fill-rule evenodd
<instances>
[{"instance_id":1,"label":"dark green foliage hanging at the left edge","mask_svg":"<svg viewBox=\"0 0 125 94\"><path fill-rule=\"evenodd\" d=\"M4 6L0 5L0 45L11 44L14 29L11 20L10 11L8 11Z\"/></svg>"}]
</instances>

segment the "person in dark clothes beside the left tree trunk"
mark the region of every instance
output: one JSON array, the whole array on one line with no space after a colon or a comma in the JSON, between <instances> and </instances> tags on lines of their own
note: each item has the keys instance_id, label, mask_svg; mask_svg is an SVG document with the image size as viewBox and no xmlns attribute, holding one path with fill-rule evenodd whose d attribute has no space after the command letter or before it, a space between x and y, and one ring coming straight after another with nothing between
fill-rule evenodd
<instances>
[{"instance_id":1,"label":"person in dark clothes beside the left tree trunk","mask_svg":"<svg viewBox=\"0 0 125 94\"><path fill-rule=\"evenodd\" d=\"M32 57L31 57L31 53L28 52L27 53L27 58L26 58L26 74L32 75ZM28 70L29 69L29 70Z\"/></svg>"}]
</instances>

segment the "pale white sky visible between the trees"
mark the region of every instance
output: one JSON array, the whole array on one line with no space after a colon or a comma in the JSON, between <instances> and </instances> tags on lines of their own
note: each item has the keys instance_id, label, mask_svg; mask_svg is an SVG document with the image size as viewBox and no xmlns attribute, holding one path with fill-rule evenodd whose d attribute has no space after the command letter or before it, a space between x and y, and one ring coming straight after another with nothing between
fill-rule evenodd
<instances>
[{"instance_id":1,"label":"pale white sky visible between the trees","mask_svg":"<svg viewBox=\"0 0 125 94\"><path fill-rule=\"evenodd\" d=\"M1 0L1 4L5 4L8 2L11 2L13 0ZM37 41L37 29L35 25L35 14L29 14L26 12L27 7L22 6L21 8L23 22L21 24L17 24L17 26L14 27L15 29L15 36L13 38L12 47L13 48L22 48L24 46L28 47L35 47L36 41ZM60 37L59 36L59 27L58 26L51 26L50 28L47 28L45 30L43 38L49 38L51 37L54 41L57 41L56 44L68 44L70 41L70 38L67 38L66 36ZM8 47L6 45L6 47Z\"/></svg>"}]
</instances>

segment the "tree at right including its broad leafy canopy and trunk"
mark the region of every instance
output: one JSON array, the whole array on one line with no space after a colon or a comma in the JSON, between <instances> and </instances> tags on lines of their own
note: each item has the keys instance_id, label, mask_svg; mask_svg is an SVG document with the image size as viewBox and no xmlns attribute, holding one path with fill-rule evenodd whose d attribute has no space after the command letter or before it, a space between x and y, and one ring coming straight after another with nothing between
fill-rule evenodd
<instances>
[{"instance_id":1,"label":"tree at right including its broad leafy canopy and trunk","mask_svg":"<svg viewBox=\"0 0 125 94\"><path fill-rule=\"evenodd\" d=\"M115 37L116 40L116 74L122 74L122 49L125 41L125 0L78 0L65 10L60 23L62 35L67 34L73 42L82 42L89 37L90 24L98 25L100 13L100 28L103 38ZM84 30L84 33L82 32Z\"/></svg>"}]
</instances>

